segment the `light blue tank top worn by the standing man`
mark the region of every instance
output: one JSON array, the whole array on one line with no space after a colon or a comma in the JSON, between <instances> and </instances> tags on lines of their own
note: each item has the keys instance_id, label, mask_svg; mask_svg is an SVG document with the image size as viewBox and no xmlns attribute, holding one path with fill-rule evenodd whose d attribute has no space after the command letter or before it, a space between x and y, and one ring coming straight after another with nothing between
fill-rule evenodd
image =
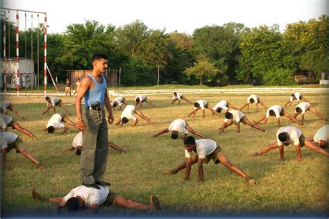
<instances>
[{"instance_id":1,"label":"light blue tank top worn by the standing man","mask_svg":"<svg viewBox=\"0 0 329 219\"><path fill-rule=\"evenodd\" d=\"M106 79L103 77L103 82L100 84L95 80L95 78L91 75L87 75L92 79L94 82L94 87L90 90L88 90L85 93L85 106L90 107L90 105L93 105L94 103L101 103L101 105L104 105L104 99L105 99L105 92L106 92Z\"/></svg>"}]
</instances>

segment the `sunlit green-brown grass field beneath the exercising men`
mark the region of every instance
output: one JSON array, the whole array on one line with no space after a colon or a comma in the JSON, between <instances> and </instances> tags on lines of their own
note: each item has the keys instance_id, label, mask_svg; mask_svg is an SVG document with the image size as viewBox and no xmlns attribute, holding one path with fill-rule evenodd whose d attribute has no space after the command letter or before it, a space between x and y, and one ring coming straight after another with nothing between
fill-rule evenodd
<instances>
[{"instance_id":1,"label":"sunlit green-brown grass field beneath the exercising men","mask_svg":"<svg viewBox=\"0 0 329 219\"><path fill-rule=\"evenodd\" d=\"M228 100L240 107L246 102L248 95L212 95L199 94L186 96L189 100L208 100L211 106L219 100ZM326 94L305 94L307 100L327 118L328 96ZM289 95L260 95L262 101L271 105L284 105ZM133 103L133 98L127 98ZM273 150L260 157L251 157L251 153L260 150L269 143L276 141L278 130L276 119L271 117L265 128L267 133L260 132L247 125L241 126L241 134L232 125L225 133L219 133L218 128L223 119L212 116L206 110L205 119L201 112L196 112L195 118L186 117L193 107L183 102L171 105L171 96L149 96L149 99L159 105L155 109L144 104L142 112L155 122L153 127L140 119L136 127L130 121L123 128L109 125L109 139L128 152L119 154L110 149L106 179L112 183L110 189L133 200L149 203L149 195L160 198L162 211L149 213L120 209L114 206L102 206L101 216L323 216L329 215L328 188L328 158L307 148L302 148L303 161L296 161L294 146L285 147L285 161L279 161L278 150ZM2 216L51 216L55 204L35 202L31 198L30 188L35 188L42 195L49 197L66 195L71 189L81 184L80 157L74 152L65 151L71 146L71 141L78 130L70 128L60 135L43 134L49 116L41 114L46 107L42 97L20 98L10 97L9 100L27 119L14 117L19 124L27 128L38 138L33 141L22 133L26 148L46 166L39 170L35 164L12 150L6 159L2 173ZM64 103L73 103L74 97L62 98ZM296 105L296 102L293 106ZM74 112L74 105L67 105ZM294 107L285 107L289 114L294 114ZM52 109L51 109L52 112ZM58 112L64 112L58 108ZM251 105L248 112L243 111L249 120L258 119L266 113L259 106ZM114 112L115 120L121 112ZM76 121L76 116L71 116ZM248 175L254 177L257 184L249 186L244 179L231 172L223 165L214 165L211 161L204 165L205 183L199 184L197 166L192 166L190 180L181 179L185 171L176 175L163 175L162 170L169 170L185 160L183 141L180 137L173 140L170 134L162 134L153 138L152 134L167 128L174 119L185 119L195 130L205 134L210 139L220 143L230 161L242 168ZM299 116L298 119L301 119ZM298 127L305 137L312 137L326 122L307 112L305 123ZM281 125L295 125L286 118L281 119ZM10 132L16 132L9 129ZM17 133L17 132L16 132ZM199 139L199 138L196 138ZM328 149L327 149L328 150Z\"/></svg>"}]
</instances>

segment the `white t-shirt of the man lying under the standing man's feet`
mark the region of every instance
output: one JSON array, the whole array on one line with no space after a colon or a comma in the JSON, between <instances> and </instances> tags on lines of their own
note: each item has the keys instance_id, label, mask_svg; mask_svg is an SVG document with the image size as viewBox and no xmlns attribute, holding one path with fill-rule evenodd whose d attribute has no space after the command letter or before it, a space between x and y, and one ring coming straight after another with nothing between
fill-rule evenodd
<instances>
[{"instance_id":1,"label":"white t-shirt of the man lying under the standing man's feet","mask_svg":"<svg viewBox=\"0 0 329 219\"><path fill-rule=\"evenodd\" d=\"M103 204L108 198L110 190L106 186L99 186L101 189L94 189L86 186L78 186L72 189L63 200L67 202L69 198L81 196L85 200L85 207L90 208L91 204Z\"/></svg>"}]
</instances>

